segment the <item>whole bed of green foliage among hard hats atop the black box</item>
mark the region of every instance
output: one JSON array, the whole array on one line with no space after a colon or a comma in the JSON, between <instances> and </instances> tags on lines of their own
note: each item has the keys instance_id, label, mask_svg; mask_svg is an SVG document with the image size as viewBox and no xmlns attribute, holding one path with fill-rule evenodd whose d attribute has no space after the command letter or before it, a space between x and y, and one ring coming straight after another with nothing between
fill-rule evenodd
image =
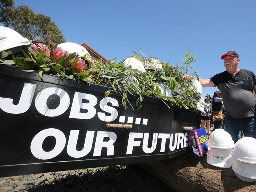
<instances>
[{"instance_id":1,"label":"whole bed of green foliage among hard hats atop the black box","mask_svg":"<svg viewBox=\"0 0 256 192\"><path fill-rule=\"evenodd\" d=\"M39 52L38 47L45 51ZM90 60L89 55L84 55L83 57L87 61L88 67L84 70L75 71L74 66L77 65L78 55L72 53L66 56L65 54L53 62L52 58L56 50L57 47L52 44L47 46L37 44L37 48L30 46L28 52L23 51L22 54L14 54L13 61L7 61L3 58L12 52L2 53L3 57L0 63L12 65L14 62L16 66L24 68L27 72L38 72L42 79L43 74L48 73L57 75L60 78L77 79L87 83L111 87L111 90L105 92L105 97L113 94L113 92L119 94L125 109L130 106L133 110L139 110L142 107L145 96L159 98L169 108L171 106L184 109L197 108L196 102L199 101L200 95L183 78L188 70L191 69L191 63L196 61L196 57L192 56L191 52L187 53L182 67L161 62L162 69L140 72L132 69L131 66L124 67L122 61L118 63L113 60L102 63L102 59L99 59L94 63L94 61ZM140 56L136 52L134 53L135 55L130 57L135 57L144 64L152 62L153 57L148 58L144 54ZM194 72L193 76L196 75L196 72ZM160 83L165 89L169 88L171 90L171 96L162 95ZM135 104L132 104L129 100L131 95L137 96Z\"/></svg>"}]
</instances>

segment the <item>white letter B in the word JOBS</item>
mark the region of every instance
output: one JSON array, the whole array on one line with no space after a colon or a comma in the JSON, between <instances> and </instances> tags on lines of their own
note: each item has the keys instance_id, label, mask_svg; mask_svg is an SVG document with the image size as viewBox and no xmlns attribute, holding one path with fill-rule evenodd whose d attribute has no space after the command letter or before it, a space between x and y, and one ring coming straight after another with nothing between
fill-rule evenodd
<instances>
[{"instance_id":1,"label":"white letter B in the word JOBS","mask_svg":"<svg viewBox=\"0 0 256 192\"><path fill-rule=\"evenodd\" d=\"M89 103L83 103L82 100L88 100ZM69 118L76 119L91 119L96 114L95 105L97 104L97 98L92 94L75 92L72 107L70 110ZM80 112L80 109L86 109L87 112Z\"/></svg>"}]
</instances>

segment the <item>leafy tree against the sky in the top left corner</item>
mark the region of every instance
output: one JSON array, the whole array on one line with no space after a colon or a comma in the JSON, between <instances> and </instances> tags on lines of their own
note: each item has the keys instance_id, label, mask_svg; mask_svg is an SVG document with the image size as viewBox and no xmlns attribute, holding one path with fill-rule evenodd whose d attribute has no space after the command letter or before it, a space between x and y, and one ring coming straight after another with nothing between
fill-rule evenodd
<instances>
[{"instance_id":1,"label":"leafy tree against the sky in the top left corner","mask_svg":"<svg viewBox=\"0 0 256 192\"><path fill-rule=\"evenodd\" d=\"M0 22L23 37L38 41L65 42L55 22L42 13L35 14L28 6L14 6L14 0L0 0Z\"/></svg>"}]
</instances>

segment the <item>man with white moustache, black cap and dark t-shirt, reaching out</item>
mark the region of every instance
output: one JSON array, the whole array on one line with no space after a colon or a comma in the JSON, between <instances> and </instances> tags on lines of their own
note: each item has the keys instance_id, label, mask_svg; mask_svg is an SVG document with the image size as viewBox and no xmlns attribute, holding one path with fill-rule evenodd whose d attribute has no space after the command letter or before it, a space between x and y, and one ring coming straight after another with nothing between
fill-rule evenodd
<instances>
[{"instance_id":1,"label":"man with white moustache, black cap and dark t-shirt, reaching out","mask_svg":"<svg viewBox=\"0 0 256 192\"><path fill-rule=\"evenodd\" d=\"M222 93L226 111L225 126L234 142L237 141L239 130L245 136L256 138L255 98L256 76L250 70L240 69L239 55L229 51L221 56L226 71L209 79L199 79L202 87L218 87ZM188 79L190 76L185 76Z\"/></svg>"}]
</instances>

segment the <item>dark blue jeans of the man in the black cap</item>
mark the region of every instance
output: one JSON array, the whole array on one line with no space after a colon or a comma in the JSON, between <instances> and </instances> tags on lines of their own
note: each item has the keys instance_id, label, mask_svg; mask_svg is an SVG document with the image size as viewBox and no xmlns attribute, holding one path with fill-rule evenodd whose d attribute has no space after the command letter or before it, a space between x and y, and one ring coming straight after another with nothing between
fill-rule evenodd
<instances>
[{"instance_id":1,"label":"dark blue jeans of the man in the black cap","mask_svg":"<svg viewBox=\"0 0 256 192\"><path fill-rule=\"evenodd\" d=\"M234 142L237 141L239 130L241 129L245 137L256 138L256 117L230 118L225 117L226 131L231 135Z\"/></svg>"}]
</instances>

